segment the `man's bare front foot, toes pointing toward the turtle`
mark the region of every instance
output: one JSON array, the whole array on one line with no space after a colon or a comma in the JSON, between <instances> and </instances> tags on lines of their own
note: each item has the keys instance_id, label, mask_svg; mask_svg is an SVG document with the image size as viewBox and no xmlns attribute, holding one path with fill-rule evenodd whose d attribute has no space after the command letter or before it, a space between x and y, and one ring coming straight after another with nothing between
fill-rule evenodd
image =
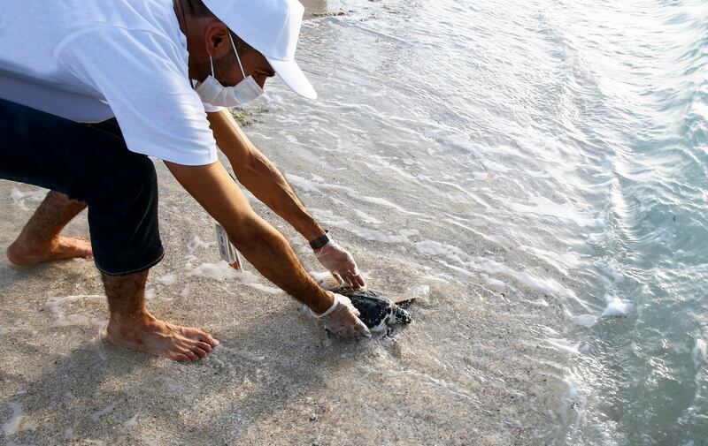
<instances>
[{"instance_id":1,"label":"man's bare front foot, toes pointing toward the turtle","mask_svg":"<svg viewBox=\"0 0 708 446\"><path fill-rule=\"evenodd\" d=\"M181 362L204 358L219 345L209 333L160 321L147 313L130 321L111 317L106 333L113 344Z\"/></svg>"}]
</instances>

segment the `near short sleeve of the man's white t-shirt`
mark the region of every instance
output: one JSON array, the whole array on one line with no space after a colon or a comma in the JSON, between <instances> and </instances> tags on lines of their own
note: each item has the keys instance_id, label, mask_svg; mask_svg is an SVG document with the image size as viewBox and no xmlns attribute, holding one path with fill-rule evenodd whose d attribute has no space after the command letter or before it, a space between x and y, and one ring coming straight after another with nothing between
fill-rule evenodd
<instances>
[{"instance_id":1,"label":"near short sleeve of the man's white t-shirt","mask_svg":"<svg viewBox=\"0 0 708 446\"><path fill-rule=\"evenodd\" d=\"M58 52L65 69L108 102L130 151L184 165L217 160L204 104L175 43L149 31L100 27Z\"/></svg>"}]
</instances>

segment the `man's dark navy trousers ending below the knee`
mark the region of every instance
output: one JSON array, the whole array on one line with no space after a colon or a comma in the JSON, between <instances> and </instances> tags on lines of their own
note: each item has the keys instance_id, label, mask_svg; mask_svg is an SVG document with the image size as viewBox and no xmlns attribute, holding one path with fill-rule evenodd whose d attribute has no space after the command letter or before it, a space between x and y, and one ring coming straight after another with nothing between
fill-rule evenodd
<instances>
[{"instance_id":1,"label":"man's dark navy trousers ending below the knee","mask_svg":"<svg viewBox=\"0 0 708 446\"><path fill-rule=\"evenodd\" d=\"M155 166L127 149L115 119L81 124L0 99L0 178L86 201L94 261L105 274L162 260Z\"/></svg>"}]
</instances>

